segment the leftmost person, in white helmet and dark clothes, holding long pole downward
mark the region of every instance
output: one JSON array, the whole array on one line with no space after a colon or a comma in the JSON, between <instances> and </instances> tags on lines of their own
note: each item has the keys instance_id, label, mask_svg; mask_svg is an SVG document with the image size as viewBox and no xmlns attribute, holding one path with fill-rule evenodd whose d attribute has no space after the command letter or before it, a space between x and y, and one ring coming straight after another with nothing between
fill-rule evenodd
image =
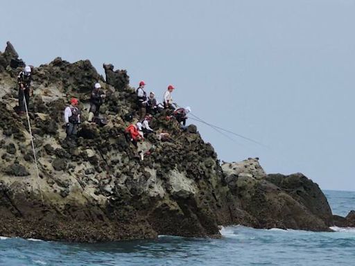
<instances>
[{"instance_id":1,"label":"leftmost person, in white helmet and dark clothes, holding long pole downward","mask_svg":"<svg viewBox=\"0 0 355 266\"><path fill-rule=\"evenodd\" d=\"M24 114L24 112L26 112L26 109L28 110L30 94L32 93L30 89L31 80L31 67L26 66L24 68L24 71L21 71L19 73L19 76L17 76L17 83L19 85L19 114Z\"/></svg>"}]
</instances>

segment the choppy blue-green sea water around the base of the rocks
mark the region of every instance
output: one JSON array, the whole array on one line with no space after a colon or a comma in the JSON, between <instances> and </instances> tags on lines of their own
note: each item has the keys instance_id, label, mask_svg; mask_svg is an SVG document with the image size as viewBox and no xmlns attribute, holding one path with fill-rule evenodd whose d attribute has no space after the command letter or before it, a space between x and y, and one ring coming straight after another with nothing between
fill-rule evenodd
<instances>
[{"instance_id":1,"label":"choppy blue-green sea water around the base of the rocks","mask_svg":"<svg viewBox=\"0 0 355 266\"><path fill-rule=\"evenodd\" d=\"M326 190L334 214L355 209L355 192ZM221 239L160 236L99 244L0 237L0 265L354 265L355 228L333 233L225 227Z\"/></svg>"}]
</instances>

